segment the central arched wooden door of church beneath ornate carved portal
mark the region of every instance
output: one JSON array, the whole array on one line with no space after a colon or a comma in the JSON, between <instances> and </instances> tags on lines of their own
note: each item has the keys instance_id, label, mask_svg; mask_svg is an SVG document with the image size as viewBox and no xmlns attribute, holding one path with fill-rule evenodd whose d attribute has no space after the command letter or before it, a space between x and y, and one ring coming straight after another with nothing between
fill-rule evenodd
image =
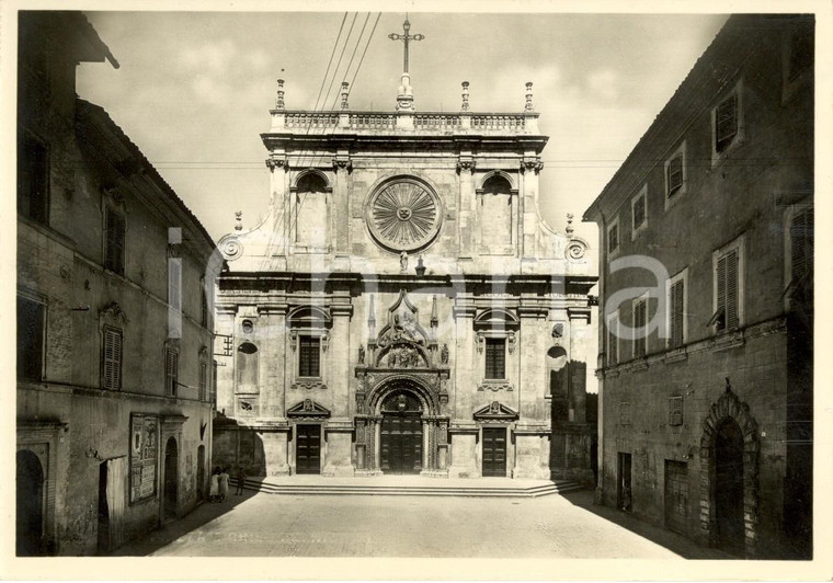
<instances>
[{"instance_id":1,"label":"central arched wooden door of church beneath ornate carved portal","mask_svg":"<svg viewBox=\"0 0 833 583\"><path fill-rule=\"evenodd\" d=\"M408 390L396 390L381 403L380 457L385 473L422 469L422 405Z\"/></svg>"}]
</instances>

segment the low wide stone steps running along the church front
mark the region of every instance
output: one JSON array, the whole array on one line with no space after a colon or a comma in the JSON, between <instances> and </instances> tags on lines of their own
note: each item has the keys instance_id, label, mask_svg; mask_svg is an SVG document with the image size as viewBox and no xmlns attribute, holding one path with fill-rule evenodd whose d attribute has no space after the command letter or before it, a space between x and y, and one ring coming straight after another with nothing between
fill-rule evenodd
<instances>
[{"instance_id":1,"label":"low wide stone steps running along the church front","mask_svg":"<svg viewBox=\"0 0 833 583\"><path fill-rule=\"evenodd\" d=\"M512 485L511 480L506 480L506 485L443 485L432 483L425 485L414 484L368 484L366 481L356 484L326 483L327 478L322 478L320 483L274 483L267 481L247 480L247 490L254 490L266 494L295 494L295 495L386 495L386 496L466 496L466 498L537 498L550 494L560 494L573 490L581 490L584 487L571 481L548 482L533 487ZM436 482L436 480L427 480ZM231 479L231 483L237 485L237 481Z\"/></svg>"}]
</instances>

